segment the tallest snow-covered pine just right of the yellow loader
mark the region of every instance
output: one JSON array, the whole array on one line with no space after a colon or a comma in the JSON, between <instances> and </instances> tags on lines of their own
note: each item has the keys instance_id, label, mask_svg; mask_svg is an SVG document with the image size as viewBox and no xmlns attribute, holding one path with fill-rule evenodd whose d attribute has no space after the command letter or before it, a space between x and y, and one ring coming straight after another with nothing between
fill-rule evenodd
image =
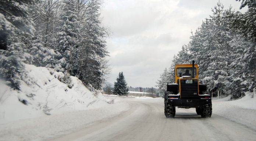
<instances>
[{"instance_id":1,"label":"tallest snow-covered pine just right of the yellow loader","mask_svg":"<svg viewBox=\"0 0 256 141\"><path fill-rule=\"evenodd\" d=\"M228 76L228 64L230 64L230 46L228 42L231 40L231 34L228 29L228 23L224 17L224 6L217 3L212 9L213 15L210 16L210 24L213 30L213 46L210 48L209 59L210 64L203 74L205 82L207 82L209 90L216 89L221 91L225 88L225 81Z\"/></svg>"}]
</instances>

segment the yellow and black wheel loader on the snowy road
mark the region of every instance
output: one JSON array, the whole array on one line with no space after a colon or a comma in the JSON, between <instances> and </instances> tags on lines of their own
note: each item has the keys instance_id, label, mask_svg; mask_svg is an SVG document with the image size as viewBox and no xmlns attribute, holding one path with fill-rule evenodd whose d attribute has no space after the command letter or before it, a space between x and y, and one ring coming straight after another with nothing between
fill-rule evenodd
<instances>
[{"instance_id":1,"label":"yellow and black wheel loader on the snowy road","mask_svg":"<svg viewBox=\"0 0 256 141\"><path fill-rule=\"evenodd\" d=\"M199 84L198 65L175 65L175 82L167 84L164 94L164 114L167 118L175 116L175 107L196 108L202 118L211 117L211 96L206 84Z\"/></svg>"}]
</instances>

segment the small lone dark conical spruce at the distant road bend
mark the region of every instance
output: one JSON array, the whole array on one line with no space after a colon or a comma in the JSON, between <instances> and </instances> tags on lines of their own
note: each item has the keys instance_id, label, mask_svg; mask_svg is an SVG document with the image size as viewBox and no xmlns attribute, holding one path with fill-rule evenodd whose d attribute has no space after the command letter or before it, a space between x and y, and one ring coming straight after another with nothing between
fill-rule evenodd
<instances>
[{"instance_id":1,"label":"small lone dark conical spruce at the distant road bend","mask_svg":"<svg viewBox=\"0 0 256 141\"><path fill-rule=\"evenodd\" d=\"M128 94L128 87L123 72L118 74L117 81L114 83L113 93L116 95Z\"/></svg>"}]
</instances>

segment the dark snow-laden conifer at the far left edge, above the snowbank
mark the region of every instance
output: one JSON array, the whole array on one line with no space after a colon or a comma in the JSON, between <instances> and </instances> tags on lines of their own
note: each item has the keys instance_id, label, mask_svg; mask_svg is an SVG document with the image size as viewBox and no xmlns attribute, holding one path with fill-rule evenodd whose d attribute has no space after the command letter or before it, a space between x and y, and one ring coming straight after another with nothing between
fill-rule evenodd
<instances>
[{"instance_id":1,"label":"dark snow-laden conifer at the far left edge, above the snowbank","mask_svg":"<svg viewBox=\"0 0 256 141\"><path fill-rule=\"evenodd\" d=\"M19 89L26 75L24 65L28 58L28 40L34 35L34 23L29 13L38 0L0 1L0 75L11 87Z\"/></svg>"}]
</instances>

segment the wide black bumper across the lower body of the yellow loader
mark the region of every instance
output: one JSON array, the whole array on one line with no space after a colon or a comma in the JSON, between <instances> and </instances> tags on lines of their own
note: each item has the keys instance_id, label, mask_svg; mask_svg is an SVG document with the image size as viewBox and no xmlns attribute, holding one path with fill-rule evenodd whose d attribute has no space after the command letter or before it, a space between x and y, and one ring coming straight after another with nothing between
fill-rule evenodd
<instances>
[{"instance_id":1,"label":"wide black bumper across the lower body of the yellow loader","mask_svg":"<svg viewBox=\"0 0 256 141\"><path fill-rule=\"evenodd\" d=\"M196 108L211 103L211 99L168 99L168 104L179 107Z\"/></svg>"}]
</instances>

